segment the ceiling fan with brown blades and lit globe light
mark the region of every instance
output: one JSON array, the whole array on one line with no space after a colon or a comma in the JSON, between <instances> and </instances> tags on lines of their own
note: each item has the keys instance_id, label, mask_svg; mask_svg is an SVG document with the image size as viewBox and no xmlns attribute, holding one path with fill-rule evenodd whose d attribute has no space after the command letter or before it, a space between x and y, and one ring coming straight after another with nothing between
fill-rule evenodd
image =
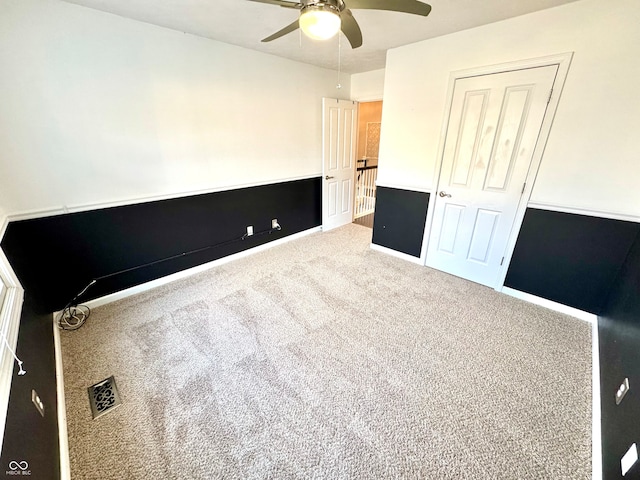
<instances>
[{"instance_id":1,"label":"ceiling fan with brown blades and lit globe light","mask_svg":"<svg viewBox=\"0 0 640 480\"><path fill-rule=\"evenodd\" d=\"M326 40L342 30L351 48L362 45L362 32L352 9L389 10L392 12L411 13L426 17L431 11L431 5L417 0L249 0L250 2L268 3L285 8L300 10L300 17L273 35L263 38L263 42L270 42L291 33L298 28L309 37L316 40ZM349 8L348 8L349 7Z\"/></svg>"}]
</instances>

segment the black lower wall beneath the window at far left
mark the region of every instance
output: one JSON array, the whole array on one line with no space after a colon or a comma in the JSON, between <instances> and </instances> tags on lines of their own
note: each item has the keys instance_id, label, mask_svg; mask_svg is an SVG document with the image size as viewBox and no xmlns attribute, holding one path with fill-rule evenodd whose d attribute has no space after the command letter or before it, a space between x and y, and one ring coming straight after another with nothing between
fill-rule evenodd
<instances>
[{"instance_id":1,"label":"black lower wall beneath the window at far left","mask_svg":"<svg viewBox=\"0 0 640 480\"><path fill-rule=\"evenodd\" d=\"M6 478L14 478L11 462L27 462L27 472L31 472L29 478L59 479L53 318L50 314L36 313L28 296L22 307L16 353L27 373L18 376L17 366L14 368L0 456L0 477L4 478L8 471L12 473L6 474ZM31 403L31 390L38 393L45 405L44 417Z\"/></svg>"}]
</instances>

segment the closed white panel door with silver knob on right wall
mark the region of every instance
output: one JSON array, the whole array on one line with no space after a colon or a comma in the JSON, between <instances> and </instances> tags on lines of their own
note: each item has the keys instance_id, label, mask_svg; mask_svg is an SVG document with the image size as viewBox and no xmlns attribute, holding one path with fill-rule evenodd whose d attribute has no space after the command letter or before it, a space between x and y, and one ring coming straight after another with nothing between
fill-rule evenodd
<instances>
[{"instance_id":1,"label":"closed white panel door with silver knob on right wall","mask_svg":"<svg viewBox=\"0 0 640 480\"><path fill-rule=\"evenodd\" d=\"M456 80L427 266L496 285L557 69Z\"/></svg>"}]
</instances>

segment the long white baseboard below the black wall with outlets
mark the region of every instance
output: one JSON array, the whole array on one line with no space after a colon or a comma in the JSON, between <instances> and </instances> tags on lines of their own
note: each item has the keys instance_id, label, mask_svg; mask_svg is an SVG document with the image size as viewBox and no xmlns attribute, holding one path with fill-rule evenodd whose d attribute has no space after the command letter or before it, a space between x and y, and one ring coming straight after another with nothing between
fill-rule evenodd
<instances>
[{"instance_id":1,"label":"long white baseboard below the black wall with outlets","mask_svg":"<svg viewBox=\"0 0 640 480\"><path fill-rule=\"evenodd\" d=\"M196 273L207 271L219 265L224 265L225 263L232 262L240 258L248 257L255 253L262 252L264 250L268 250L269 248L275 247L277 245L282 245L283 243L290 242L291 240L296 240L298 238L305 237L312 233L319 232L321 231L321 229L322 227L314 227L314 228L310 228L309 230L304 230L302 232L294 233L293 235L289 235L283 238L279 238L277 240L273 240L272 242L258 245L257 247L250 248L249 250L244 250L242 252L234 253L233 255L220 258L218 260L213 260L212 262L209 262L209 263L204 263L202 265L198 265L196 267L192 267L187 270L182 270L180 272L172 273L171 275L167 275L166 277L158 278L156 280L151 280L150 282L146 282L141 285L136 285L135 287L127 288L126 290L121 290L119 292L115 292L110 295L105 295L104 297L96 298L95 300L82 302L82 304L87 305L89 308L96 308L102 305L106 305L108 303L115 302L116 300L121 300L123 298L127 298L132 295L137 295L138 293L146 292L153 288L166 285L167 283L175 282L176 280L181 280L183 278L190 277L192 275L195 275ZM54 314L55 318L58 318L59 313L60 312L56 312Z\"/></svg>"}]
</instances>

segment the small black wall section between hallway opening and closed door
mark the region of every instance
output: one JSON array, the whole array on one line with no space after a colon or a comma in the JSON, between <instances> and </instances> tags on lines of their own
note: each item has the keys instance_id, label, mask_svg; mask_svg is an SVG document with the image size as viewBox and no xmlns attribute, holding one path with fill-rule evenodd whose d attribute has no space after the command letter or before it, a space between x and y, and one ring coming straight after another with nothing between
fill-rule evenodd
<instances>
[{"instance_id":1,"label":"small black wall section between hallway opening and closed door","mask_svg":"<svg viewBox=\"0 0 640 480\"><path fill-rule=\"evenodd\" d=\"M419 257L428 206L428 193L377 187L372 242Z\"/></svg>"}]
</instances>

